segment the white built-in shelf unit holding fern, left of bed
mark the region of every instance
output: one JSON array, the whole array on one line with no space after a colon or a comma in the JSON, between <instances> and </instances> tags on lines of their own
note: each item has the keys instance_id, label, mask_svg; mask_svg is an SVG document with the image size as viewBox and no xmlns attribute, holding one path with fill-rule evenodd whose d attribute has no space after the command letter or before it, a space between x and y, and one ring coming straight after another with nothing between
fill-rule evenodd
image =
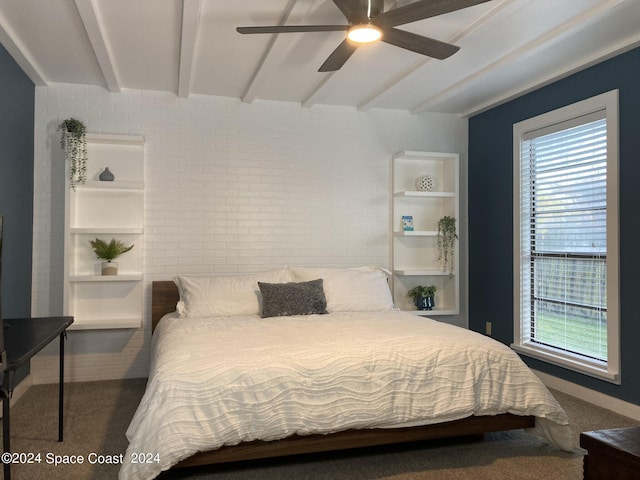
<instances>
[{"instance_id":1,"label":"white built-in shelf unit holding fern, left of bed","mask_svg":"<svg viewBox=\"0 0 640 480\"><path fill-rule=\"evenodd\" d=\"M144 138L87 134L87 181L67 189L65 314L73 330L138 328L143 315ZM105 167L113 181L100 181ZM133 249L102 275L90 240L112 238Z\"/></svg>"}]
</instances>

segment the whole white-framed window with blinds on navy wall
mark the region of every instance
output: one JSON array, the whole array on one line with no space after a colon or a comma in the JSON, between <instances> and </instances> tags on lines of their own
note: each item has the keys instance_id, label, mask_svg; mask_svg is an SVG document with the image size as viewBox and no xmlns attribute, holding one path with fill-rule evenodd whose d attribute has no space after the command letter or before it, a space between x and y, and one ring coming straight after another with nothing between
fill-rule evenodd
<instances>
[{"instance_id":1,"label":"whole white-framed window with blinds on navy wall","mask_svg":"<svg viewBox=\"0 0 640 480\"><path fill-rule=\"evenodd\" d=\"M619 383L618 92L514 125L512 347Z\"/></svg>"}]
</instances>

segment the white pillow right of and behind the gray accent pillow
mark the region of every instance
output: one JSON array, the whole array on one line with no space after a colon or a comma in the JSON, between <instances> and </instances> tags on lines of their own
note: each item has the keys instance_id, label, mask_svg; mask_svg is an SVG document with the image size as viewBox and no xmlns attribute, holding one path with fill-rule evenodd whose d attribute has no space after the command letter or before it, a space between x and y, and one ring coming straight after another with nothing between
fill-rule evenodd
<instances>
[{"instance_id":1,"label":"white pillow right of and behind the gray accent pillow","mask_svg":"<svg viewBox=\"0 0 640 480\"><path fill-rule=\"evenodd\" d=\"M378 267L290 267L290 270L295 281L322 279L329 313L394 308L387 275Z\"/></svg>"}]
</instances>

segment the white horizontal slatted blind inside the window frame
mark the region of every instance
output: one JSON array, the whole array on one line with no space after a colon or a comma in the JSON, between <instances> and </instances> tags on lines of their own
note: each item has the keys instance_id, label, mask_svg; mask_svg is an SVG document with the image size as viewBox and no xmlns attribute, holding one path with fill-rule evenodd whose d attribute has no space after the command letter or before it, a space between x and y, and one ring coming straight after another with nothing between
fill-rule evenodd
<instances>
[{"instance_id":1,"label":"white horizontal slatted blind inside the window frame","mask_svg":"<svg viewBox=\"0 0 640 480\"><path fill-rule=\"evenodd\" d=\"M605 112L527 132L521 165L525 340L606 362Z\"/></svg>"}]
</instances>

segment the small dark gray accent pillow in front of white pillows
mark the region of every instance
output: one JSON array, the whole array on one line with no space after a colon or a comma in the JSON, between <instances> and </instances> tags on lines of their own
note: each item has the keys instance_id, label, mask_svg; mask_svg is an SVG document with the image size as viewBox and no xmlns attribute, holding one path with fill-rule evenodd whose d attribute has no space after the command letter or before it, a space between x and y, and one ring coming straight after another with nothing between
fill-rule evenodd
<instances>
[{"instance_id":1,"label":"small dark gray accent pillow in front of white pillows","mask_svg":"<svg viewBox=\"0 0 640 480\"><path fill-rule=\"evenodd\" d=\"M321 278L308 282L258 282L258 287L262 294L262 318L328 313Z\"/></svg>"}]
</instances>

